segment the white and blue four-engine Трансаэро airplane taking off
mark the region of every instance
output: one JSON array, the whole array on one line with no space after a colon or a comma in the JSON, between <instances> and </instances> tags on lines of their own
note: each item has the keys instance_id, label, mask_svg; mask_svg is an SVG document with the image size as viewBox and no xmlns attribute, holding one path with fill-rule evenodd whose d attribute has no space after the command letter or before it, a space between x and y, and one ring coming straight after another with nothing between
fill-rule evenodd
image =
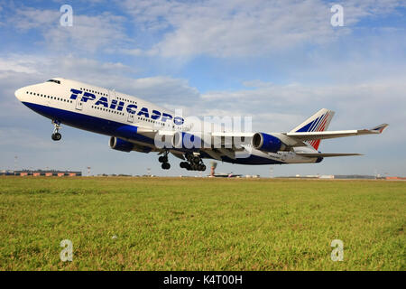
<instances>
[{"instance_id":1,"label":"white and blue four-engine \u0422\u0440\u0430\u043d\u0441\u0430\u044d\u0440\u043e airplane taking off","mask_svg":"<svg viewBox=\"0 0 406 289\"><path fill-rule=\"evenodd\" d=\"M323 139L378 135L388 126L328 131L335 112L322 108L289 132L205 132L189 125L188 118L141 98L62 78L17 89L15 97L51 119L54 141L61 139L62 124L108 135L114 150L158 153L163 170L171 168L169 154L188 171L205 171L203 159L255 165L320 163L325 157L361 155L320 153L318 146Z\"/></svg>"}]
</instances>

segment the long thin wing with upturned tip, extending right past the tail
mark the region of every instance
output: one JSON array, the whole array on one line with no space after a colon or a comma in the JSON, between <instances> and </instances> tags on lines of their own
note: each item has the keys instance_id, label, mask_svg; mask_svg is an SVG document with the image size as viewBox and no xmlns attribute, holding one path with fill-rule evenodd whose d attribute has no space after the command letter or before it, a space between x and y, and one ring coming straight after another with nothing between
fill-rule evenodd
<instances>
[{"instance_id":1,"label":"long thin wing with upturned tip, extending right past the tail","mask_svg":"<svg viewBox=\"0 0 406 289\"><path fill-rule=\"evenodd\" d=\"M383 124L375 126L372 129L358 129L358 130L338 130L338 131L324 131L324 132L304 132L304 133L286 133L287 136L293 137L300 141L311 141L318 139L337 138L353 135L375 135L381 134L383 130L389 125Z\"/></svg>"}]
</instances>

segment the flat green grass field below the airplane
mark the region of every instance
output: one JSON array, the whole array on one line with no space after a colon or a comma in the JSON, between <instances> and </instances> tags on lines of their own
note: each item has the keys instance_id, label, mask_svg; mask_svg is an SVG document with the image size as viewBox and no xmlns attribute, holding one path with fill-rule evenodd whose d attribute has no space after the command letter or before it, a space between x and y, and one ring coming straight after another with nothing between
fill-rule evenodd
<instances>
[{"instance_id":1,"label":"flat green grass field below the airplane","mask_svg":"<svg viewBox=\"0 0 406 289\"><path fill-rule=\"evenodd\" d=\"M2 177L0 220L1 270L406 268L406 182Z\"/></svg>"}]
</instances>

